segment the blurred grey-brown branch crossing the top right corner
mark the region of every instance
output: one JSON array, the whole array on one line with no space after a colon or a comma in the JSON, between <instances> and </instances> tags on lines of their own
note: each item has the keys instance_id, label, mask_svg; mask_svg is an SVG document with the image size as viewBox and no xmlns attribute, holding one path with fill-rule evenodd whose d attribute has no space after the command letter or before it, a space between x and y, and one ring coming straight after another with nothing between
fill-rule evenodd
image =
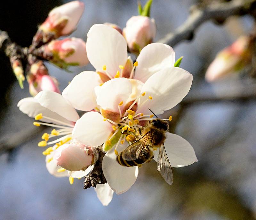
<instances>
[{"instance_id":1,"label":"blurred grey-brown branch crossing the top right corner","mask_svg":"<svg viewBox=\"0 0 256 220\"><path fill-rule=\"evenodd\" d=\"M197 27L207 20L223 23L232 15L255 15L256 0L231 0L226 3L213 1L207 6L194 5L191 7L187 20L174 32L166 34L159 40L161 43L175 46L182 40L192 40Z\"/></svg>"}]
</instances>

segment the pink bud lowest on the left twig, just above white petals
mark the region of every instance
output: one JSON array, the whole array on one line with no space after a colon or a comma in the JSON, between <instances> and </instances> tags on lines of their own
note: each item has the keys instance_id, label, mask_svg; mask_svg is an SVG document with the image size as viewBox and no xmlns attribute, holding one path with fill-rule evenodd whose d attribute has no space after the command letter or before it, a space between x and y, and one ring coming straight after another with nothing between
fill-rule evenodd
<instances>
[{"instance_id":1,"label":"pink bud lowest on the left twig, just above white petals","mask_svg":"<svg viewBox=\"0 0 256 220\"><path fill-rule=\"evenodd\" d=\"M49 75L37 75L34 80L29 80L29 92L35 96L38 92L49 90L60 93L58 80Z\"/></svg>"}]
</instances>

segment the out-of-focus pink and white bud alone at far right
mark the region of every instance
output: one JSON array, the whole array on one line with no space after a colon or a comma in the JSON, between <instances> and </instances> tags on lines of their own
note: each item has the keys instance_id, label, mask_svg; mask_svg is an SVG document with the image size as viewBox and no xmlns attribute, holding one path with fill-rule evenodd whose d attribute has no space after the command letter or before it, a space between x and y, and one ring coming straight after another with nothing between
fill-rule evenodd
<instances>
[{"instance_id":1,"label":"out-of-focus pink and white bud alone at far right","mask_svg":"<svg viewBox=\"0 0 256 220\"><path fill-rule=\"evenodd\" d=\"M212 82L244 68L252 59L250 44L250 37L241 36L221 50L208 67L205 80Z\"/></svg>"}]
</instances>

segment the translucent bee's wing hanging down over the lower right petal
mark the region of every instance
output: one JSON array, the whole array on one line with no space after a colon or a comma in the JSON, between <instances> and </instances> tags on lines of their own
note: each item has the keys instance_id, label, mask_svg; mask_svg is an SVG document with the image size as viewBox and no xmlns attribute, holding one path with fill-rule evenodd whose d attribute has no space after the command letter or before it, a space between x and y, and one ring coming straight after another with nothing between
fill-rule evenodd
<instances>
[{"instance_id":1,"label":"translucent bee's wing hanging down over the lower right petal","mask_svg":"<svg viewBox=\"0 0 256 220\"><path fill-rule=\"evenodd\" d=\"M160 146L160 150L157 158L157 170L161 173L164 180L169 185L172 185L172 182L173 182L172 168L171 168L170 161L167 157L164 144Z\"/></svg>"}]
</instances>

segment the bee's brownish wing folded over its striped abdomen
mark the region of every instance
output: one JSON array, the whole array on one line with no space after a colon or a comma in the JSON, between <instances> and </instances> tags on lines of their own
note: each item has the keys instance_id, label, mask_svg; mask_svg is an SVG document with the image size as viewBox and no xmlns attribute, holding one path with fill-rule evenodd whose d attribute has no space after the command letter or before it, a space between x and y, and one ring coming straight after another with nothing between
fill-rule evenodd
<instances>
[{"instance_id":1,"label":"bee's brownish wing folded over its striped abdomen","mask_svg":"<svg viewBox=\"0 0 256 220\"><path fill-rule=\"evenodd\" d=\"M139 158L140 152L148 141L148 134L145 134L139 140L130 144L127 148L124 149L122 158L124 160L136 160Z\"/></svg>"}]
</instances>

